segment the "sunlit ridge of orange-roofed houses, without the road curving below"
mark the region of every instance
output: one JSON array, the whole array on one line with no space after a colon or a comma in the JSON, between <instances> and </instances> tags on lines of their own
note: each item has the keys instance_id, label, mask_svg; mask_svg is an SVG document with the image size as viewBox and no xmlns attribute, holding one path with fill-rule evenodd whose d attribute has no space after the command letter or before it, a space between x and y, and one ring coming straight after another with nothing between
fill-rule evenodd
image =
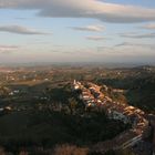
<instances>
[{"instance_id":1,"label":"sunlit ridge of orange-roofed houses, without the road curving below","mask_svg":"<svg viewBox=\"0 0 155 155\"><path fill-rule=\"evenodd\" d=\"M100 91L101 86L94 83L87 82L86 84L82 84L81 82L74 81L74 89L82 91L80 99L83 100L86 107L100 106L105 110L110 118L131 123L134 128L137 127L140 131L147 124L147 121L144 118L145 113L142 110L113 101Z\"/></svg>"}]
</instances>

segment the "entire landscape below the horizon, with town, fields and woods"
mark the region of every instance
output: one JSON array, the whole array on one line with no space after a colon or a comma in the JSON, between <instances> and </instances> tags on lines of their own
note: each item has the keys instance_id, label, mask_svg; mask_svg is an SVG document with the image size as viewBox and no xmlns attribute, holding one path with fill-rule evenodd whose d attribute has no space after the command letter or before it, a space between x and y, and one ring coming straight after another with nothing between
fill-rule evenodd
<instances>
[{"instance_id":1,"label":"entire landscape below the horizon, with town, fields and woods","mask_svg":"<svg viewBox=\"0 0 155 155\"><path fill-rule=\"evenodd\" d=\"M153 155L154 75L152 66L0 68L0 146Z\"/></svg>"}]
</instances>

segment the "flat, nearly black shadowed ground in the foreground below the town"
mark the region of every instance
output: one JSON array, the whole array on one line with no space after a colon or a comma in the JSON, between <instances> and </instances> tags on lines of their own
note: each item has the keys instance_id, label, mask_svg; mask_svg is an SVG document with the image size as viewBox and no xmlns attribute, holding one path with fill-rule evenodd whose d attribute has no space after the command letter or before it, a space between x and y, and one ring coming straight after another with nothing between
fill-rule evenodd
<instances>
[{"instance_id":1,"label":"flat, nearly black shadowed ground in the foreground below the town","mask_svg":"<svg viewBox=\"0 0 155 155\"><path fill-rule=\"evenodd\" d=\"M0 144L13 152L21 147L46 148L63 143L89 145L112 138L126 128L120 122L107 121L103 113L81 117L48 110L4 115L0 124Z\"/></svg>"}]
</instances>

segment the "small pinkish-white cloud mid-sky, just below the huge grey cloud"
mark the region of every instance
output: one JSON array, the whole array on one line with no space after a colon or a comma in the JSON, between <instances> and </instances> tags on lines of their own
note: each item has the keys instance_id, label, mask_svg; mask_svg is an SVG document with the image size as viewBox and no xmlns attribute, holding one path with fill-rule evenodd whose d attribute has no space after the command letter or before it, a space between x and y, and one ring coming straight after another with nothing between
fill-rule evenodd
<instances>
[{"instance_id":1,"label":"small pinkish-white cloud mid-sky, just below the huge grey cloud","mask_svg":"<svg viewBox=\"0 0 155 155\"><path fill-rule=\"evenodd\" d=\"M73 30L78 31L92 31L92 32L101 32L105 29L103 25L87 25L87 27L71 27Z\"/></svg>"}]
</instances>

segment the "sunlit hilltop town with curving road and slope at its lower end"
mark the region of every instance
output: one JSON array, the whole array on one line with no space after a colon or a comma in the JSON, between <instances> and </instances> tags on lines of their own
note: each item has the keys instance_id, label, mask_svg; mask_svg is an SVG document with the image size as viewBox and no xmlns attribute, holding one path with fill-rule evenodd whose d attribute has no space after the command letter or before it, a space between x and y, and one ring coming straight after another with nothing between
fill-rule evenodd
<instances>
[{"instance_id":1,"label":"sunlit hilltop town with curving road and slope at its lower end","mask_svg":"<svg viewBox=\"0 0 155 155\"><path fill-rule=\"evenodd\" d=\"M113 100L101 92L101 86L91 83L91 82L76 82L74 81L74 90L81 90L80 99L85 103L86 108L94 108L95 106L103 108L110 118L120 120L124 123L130 123L132 126L128 131L120 134L115 138L96 144L95 149L100 149L100 152L105 152L112 148L127 148L134 147L138 145L143 141L143 136L145 136L146 130L149 127L149 122L152 122L155 116L152 116L152 121L144 111L131 106L128 104L113 102ZM105 91L107 91L107 86L104 85ZM147 117L147 118L146 118ZM149 117L149 118L148 118ZM154 127L155 122L152 123L152 127ZM155 130L153 131L153 135L155 134ZM141 152L138 154L152 154L149 152L154 152L155 154L155 137L152 137L153 144L149 144L145 149L143 146L137 146L134 148L135 151L140 148ZM145 143L145 142L144 142ZM151 151L152 149L152 151ZM154 149L154 151L153 151Z\"/></svg>"}]
</instances>

